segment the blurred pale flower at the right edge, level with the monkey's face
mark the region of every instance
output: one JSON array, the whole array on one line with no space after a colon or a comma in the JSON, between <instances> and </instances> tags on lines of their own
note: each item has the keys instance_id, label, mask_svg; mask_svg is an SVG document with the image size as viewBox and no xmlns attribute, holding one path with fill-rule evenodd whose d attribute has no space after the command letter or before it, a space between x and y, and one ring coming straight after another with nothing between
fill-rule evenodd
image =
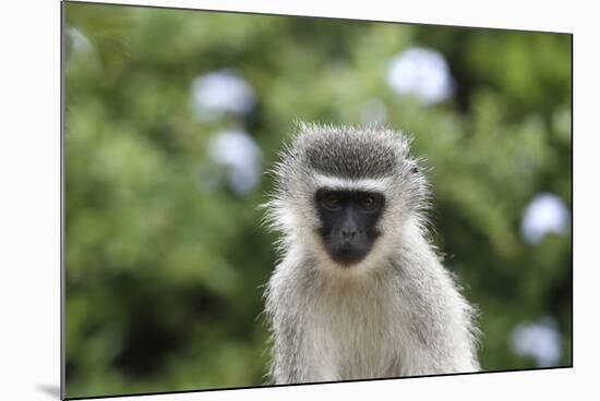
<instances>
[{"instance_id":1,"label":"blurred pale flower at the right edge, level with the monkey's face","mask_svg":"<svg viewBox=\"0 0 600 401\"><path fill-rule=\"evenodd\" d=\"M540 243L548 233L564 234L569 216L564 202L556 195L542 193L527 206L520 231L530 244Z\"/></svg>"}]
</instances>

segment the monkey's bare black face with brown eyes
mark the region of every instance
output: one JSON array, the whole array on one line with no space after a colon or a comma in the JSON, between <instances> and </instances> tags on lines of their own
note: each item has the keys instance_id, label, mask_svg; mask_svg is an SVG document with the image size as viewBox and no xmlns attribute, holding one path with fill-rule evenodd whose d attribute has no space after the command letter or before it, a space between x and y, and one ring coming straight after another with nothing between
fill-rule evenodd
<instances>
[{"instance_id":1,"label":"monkey's bare black face with brown eyes","mask_svg":"<svg viewBox=\"0 0 600 401\"><path fill-rule=\"evenodd\" d=\"M385 197L375 192L321 189L315 195L321 234L331 258L349 266L362 260L380 236Z\"/></svg>"}]
</instances>

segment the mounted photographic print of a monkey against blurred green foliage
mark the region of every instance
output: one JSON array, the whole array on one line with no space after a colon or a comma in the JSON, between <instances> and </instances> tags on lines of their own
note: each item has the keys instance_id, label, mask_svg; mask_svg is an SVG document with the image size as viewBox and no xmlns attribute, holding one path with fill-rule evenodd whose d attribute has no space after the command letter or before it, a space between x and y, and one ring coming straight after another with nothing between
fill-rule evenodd
<instances>
[{"instance_id":1,"label":"mounted photographic print of a monkey against blurred green foliage","mask_svg":"<svg viewBox=\"0 0 600 401\"><path fill-rule=\"evenodd\" d=\"M62 3L67 399L572 367L572 35Z\"/></svg>"}]
</instances>

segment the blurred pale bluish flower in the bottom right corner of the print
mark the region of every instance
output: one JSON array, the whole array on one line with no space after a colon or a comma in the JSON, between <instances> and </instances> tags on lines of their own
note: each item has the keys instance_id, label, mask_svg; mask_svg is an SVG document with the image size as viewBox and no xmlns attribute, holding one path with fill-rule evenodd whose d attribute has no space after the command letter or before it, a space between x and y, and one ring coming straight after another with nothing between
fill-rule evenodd
<instances>
[{"instance_id":1,"label":"blurred pale bluish flower in the bottom right corner of the print","mask_svg":"<svg viewBox=\"0 0 600 401\"><path fill-rule=\"evenodd\" d=\"M518 325L513 330L512 348L519 355L532 356L536 366L555 366L561 360L561 333L552 318Z\"/></svg>"}]
</instances>

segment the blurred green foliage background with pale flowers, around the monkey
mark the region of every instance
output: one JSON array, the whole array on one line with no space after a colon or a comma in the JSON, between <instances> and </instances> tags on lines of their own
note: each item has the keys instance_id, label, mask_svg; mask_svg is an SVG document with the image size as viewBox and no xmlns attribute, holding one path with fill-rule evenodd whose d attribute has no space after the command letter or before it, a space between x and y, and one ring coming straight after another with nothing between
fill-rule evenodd
<instances>
[{"instance_id":1,"label":"blurred green foliage background with pale flowers, around the monkey","mask_svg":"<svg viewBox=\"0 0 600 401\"><path fill-rule=\"evenodd\" d=\"M264 382L295 119L415 135L483 368L572 364L571 36L64 9L67 397Z\"/></svg>"}]
</instances>

